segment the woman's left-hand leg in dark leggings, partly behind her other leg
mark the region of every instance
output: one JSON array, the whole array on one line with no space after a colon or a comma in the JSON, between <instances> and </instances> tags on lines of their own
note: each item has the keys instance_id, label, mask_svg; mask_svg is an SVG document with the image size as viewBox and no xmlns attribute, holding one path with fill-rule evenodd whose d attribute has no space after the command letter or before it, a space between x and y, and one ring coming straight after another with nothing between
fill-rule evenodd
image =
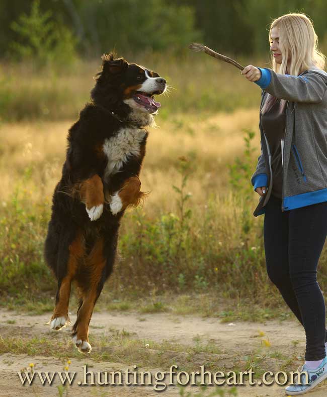
<instances>
[{"instance_id":1,"label":"woman's left-hand leg in dark leggings, partly behind her other leg","mask_svg":"<svg viewBox=\"0 0 327 397\"><path fill-rule=\"evenodd\" d=\"M289 276L289 212L282 212L281 202L279 198L270 196L265 207L264 243L267 273L270 280L279 289L284 301L303 325L301 312Z\"/></svg>"}]
</instances>

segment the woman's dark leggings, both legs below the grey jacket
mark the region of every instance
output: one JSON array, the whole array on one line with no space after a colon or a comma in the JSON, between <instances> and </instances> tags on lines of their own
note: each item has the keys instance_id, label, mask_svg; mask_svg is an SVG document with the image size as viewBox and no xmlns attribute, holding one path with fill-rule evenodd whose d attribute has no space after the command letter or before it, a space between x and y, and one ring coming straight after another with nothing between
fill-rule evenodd
<instances>
[{"instance_id":1,"label":"woman's dark leggings, both legs below the grey jacket","mask_svg":"<svg viewBox=\"0 0 327 397\"><path fill-rule=\"evenodd\" d=\"M327 202L282 212L281 200L271 195L265 208L268 276L304 326L305 360L321 360L327 330L317 266L327 234Z\"/></svg>"}]
</instances>

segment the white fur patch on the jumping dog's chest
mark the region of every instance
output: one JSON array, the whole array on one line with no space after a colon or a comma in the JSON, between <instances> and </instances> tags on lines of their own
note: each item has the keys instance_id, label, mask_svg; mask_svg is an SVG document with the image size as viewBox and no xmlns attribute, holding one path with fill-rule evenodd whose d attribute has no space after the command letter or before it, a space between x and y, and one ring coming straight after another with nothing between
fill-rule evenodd
<instances>
[{"instance_id":1,"label":"white fur patch on the jumping dog's chest","mask_svg":"<svg viewBox=\"0 0 327 397\"><path fill-rule=\"evenodd\" d=\"M116 174L130 156L139 156L145 134L141 128L121 128L117 135L104 141L103 151L108 157L105 177Z\"/></svg>"}]
</instances>

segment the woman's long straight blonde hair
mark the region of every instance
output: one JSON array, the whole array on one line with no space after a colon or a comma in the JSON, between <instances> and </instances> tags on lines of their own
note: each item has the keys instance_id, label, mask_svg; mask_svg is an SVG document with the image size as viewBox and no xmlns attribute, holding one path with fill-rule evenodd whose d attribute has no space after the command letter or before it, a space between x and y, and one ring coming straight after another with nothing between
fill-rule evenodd
<instances>
[{"instance_id":1,"label":"woman's long straight blonde hair","mask_svg":"<svg viewBox=\"0 0 327 397\"><path fill-rule=\"evenodd\" d=\"M276 63L271 55L272 70L276 73L298 76L302 72L314 67L324 69L326 56L318 49L318 36L312 21L302 13L290 13L273 20L269 30L269 41L273 28L278 29L279 48L282 63ZM290 58L289 69L287 63ZM267 94L261 113L268 111L277 98ZM279 113L282 113L286 100L281 99Z\"/></svg>"}]
</instances>

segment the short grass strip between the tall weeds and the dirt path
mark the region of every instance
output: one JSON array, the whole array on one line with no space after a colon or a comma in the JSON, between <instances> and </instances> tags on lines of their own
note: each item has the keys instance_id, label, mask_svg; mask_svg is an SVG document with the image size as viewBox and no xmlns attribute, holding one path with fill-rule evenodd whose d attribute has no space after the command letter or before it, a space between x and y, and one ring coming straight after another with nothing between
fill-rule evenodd
<instances>
[{"instance_id":1,"label":"short grass strip between the tall weeds and the dirt path","mask_svg":"<svg viewBox=\"0 0 327 397\"><path fill-rule=\"evenodd\" d=\"M54 299L8 297L0 299L0 306L20 313L43 314L53 311ZM77 309L77 297L72 293L69 311ZM251 321L264 323L267 320L277 319L284 321L293 318L282 298L276 296L270 307L263 307L261 303L251 300L229 301L219 296L215 290L201 294L178 294L173 292L153 297L144 296L134 298L133 295L121 294L121 297L110 291L110 286L105 286L95 306L94 312L109 310L111 312L136 312L140 314L139 321L145 321L144 314L166 313L174 316L196 315L200 317L219 318L220 322ZM11 320L9 320L11 321ZM92 327L92 325L91 325Z\"/></svg>"}]
</instances>

